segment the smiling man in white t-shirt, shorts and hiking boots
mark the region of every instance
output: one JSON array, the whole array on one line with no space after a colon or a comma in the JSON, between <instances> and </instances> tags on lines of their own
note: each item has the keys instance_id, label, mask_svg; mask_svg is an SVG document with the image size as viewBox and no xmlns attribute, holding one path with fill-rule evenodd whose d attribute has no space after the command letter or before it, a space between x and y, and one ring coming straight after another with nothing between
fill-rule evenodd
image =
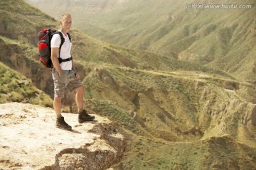
<instances>
[{"instance_id":1,"label":"smiling man in white t-shirt, shorts and hiking boots","mask_svg":"<svg viewBox=\"0 0 256 170\"><path fill-rule=\"evenodd\" d=\"M76 89L75 101L78 106L78 122L92 121L95 116L88 115L83 108L83 92L84 86L80 81L80 77L75 73L74 63L71 57L71 42L68 36L68 31L72 25L72 18L69 13L65 13L60 18L60 32L65 39L63 45L60 47L60 35L54 34L50 41L51 60L53 62L53 81L54 81L54 100L53 107L57 115L56 128L63 130L71 130L72 127L65 122L61 115L61 99L64 97L65 89L69 91ZM59 51L60 50L60 51ZM60 55L60 56L59 56ZM59 57L62 60L71 59L65 62L59 62Z\"/></svg>"}]
</instances>

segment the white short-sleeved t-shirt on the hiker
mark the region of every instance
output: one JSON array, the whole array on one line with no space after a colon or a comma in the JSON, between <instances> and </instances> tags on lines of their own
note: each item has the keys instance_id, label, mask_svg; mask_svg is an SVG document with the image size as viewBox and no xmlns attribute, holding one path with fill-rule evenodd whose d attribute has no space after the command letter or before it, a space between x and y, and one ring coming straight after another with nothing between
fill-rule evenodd
<instances>
[{"instance_id":1,"label":"white short-sleeved t-shirt on the hiker","mask_svg":"<svg viewBox=\"0 0 256 170\"><path fill-rule=\"evenodd\" d=\"M58 30L58 31L60 31L60 30ZM65 39L65 42L61 46L60 56L58 56L58 57L60 57L62 59L67 59L67 58L71 57L72 43L70 42L68 35L63 34L63 38ZM50 40L50 47L60 47L60 42L61 42L60 35L55 34L55 35L53 35L53 38ZM60 68L63 70L71 70L72 69L72 61L60 63Z\"/></svg>"}]
</instances>

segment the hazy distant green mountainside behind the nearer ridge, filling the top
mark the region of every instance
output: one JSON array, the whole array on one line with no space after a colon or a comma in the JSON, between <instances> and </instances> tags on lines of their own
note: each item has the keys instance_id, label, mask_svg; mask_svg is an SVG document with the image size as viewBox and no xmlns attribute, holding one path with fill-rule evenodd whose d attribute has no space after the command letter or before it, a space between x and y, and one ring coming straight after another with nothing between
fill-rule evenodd
<instances>
[{"instance_id":1,"label":"hazy distant green mountainside behind the nearer ridge, filling the top","mask_svg":"<svg viewBox=\"0 0 256 170\"><path fill-rule=\"evenodd\" d=\"M124 47L176 55L218 67L240 79L255 81L255 1L70 1L38 3L50 16L64 11L74 25L93 37ZM50 6L49 6L50 4ZM220 4L223 8L207 8ZM232 8L232 6L237 8ZM239 8L242 5L243 8ZM246 6L247 5L247 6ZM46 8L47 6L47 8Z\"/></svg>"}]
</instances>

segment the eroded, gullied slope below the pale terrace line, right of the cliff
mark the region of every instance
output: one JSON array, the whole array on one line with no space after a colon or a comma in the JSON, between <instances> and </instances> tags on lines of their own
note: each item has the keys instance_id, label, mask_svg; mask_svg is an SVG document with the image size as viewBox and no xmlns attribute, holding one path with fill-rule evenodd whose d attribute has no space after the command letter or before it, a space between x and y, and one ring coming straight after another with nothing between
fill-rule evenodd
<instances>
[{"instance_id":1,"label":"eroded, gullied slope below the pale terrace line, right of the cliff","mask_svg":"<svg viewBox=\"0 0 256 170\"><path fill-rule=\"evenodd\" d=\"M253 85L127 67L99 67L84 82L88 106L129 130L119 169L256 167Z\"/></svg>"}]
</instances>

